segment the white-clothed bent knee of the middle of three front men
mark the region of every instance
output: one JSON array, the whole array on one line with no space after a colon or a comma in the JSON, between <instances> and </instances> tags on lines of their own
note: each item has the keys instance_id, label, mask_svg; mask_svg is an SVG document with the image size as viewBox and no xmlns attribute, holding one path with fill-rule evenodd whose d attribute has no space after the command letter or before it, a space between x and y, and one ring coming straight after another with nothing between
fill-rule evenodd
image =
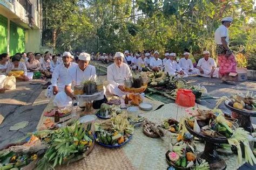
<instances>
[{"instance_id":1,"label":"white-clothed bent knee of the middle of three front men","mask_svg":"<svg viewBox=\"0 0 256 170\"><path fill-rule=\"evenodd\" d=\"M72 100L66 95L65 91L57 93L53 100L53 105L58 108L71 107Z\"/></svg>"}]
</instances>

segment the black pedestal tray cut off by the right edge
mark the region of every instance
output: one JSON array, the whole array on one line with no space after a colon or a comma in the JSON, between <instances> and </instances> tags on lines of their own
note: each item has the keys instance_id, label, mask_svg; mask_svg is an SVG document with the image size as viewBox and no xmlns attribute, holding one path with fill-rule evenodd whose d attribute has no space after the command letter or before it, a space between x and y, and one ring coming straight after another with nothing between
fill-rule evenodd
<instances>
[{"instance_id":1,"label":"black pedestal tray cut off by the right edge","mask_svg":"<svg viewBox=\"0 0 256 170\"><path fill-rule=\"evenodd\" d=\"M235 114L238 114L240 118L238 118L239 127L244 128L248 132L254 132L254 128L252 126L251 117L256 117L256 111L251 110L239 110L228 105L228 101L224 102L225 106L233 111Z\"/></svg>"}]
</instances>

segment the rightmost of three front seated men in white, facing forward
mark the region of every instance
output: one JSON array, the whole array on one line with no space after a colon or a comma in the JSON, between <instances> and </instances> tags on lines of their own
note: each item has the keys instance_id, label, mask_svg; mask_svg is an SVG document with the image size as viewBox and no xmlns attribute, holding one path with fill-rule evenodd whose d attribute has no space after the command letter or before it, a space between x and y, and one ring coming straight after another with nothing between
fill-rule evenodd
<instances>
[{"instance_id":1,"label":"rightmost of three front seated men in white, facing forward","mask_svg":"<svg viewBox=\"0 0 256 170\"><path fill-rule=\"evenodd\" d=\"M107 81L109 85L106 88L111 94L119 97L127 94L124 90L124 81L132 76L129 66L123 61L124 54L116 52L114 54L114 63L107 67Z\"/></svg>"}]
</instances>

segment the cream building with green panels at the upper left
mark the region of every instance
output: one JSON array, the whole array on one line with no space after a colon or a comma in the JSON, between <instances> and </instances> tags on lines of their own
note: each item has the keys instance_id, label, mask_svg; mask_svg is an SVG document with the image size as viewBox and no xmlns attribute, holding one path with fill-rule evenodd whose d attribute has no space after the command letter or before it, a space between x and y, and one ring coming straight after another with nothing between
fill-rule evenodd
<instances>
[{"instance_id":1,"label":"cream building with green panels at the upper left","mask_svg":"<svg viewBox=\"0 0 256 170\"><path fill-rule=\"evenodd\" d=\"M0 0L0 53L40 52L42 0Z\"/></svg>"}]
</instances>

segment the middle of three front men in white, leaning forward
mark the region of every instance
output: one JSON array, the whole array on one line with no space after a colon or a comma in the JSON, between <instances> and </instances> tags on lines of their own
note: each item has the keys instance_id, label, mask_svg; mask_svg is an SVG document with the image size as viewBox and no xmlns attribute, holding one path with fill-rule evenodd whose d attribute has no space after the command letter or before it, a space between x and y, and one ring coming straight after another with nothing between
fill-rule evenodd
<instances>
[{"instance_id":1,"label":"middle of three front men in white, leaning forward","mask_svg":"<svg viewBox=\"0 0 256 170\"><path fill-rule=\"evenodd\" d=\"M60 91L56 95L53 105L70 105L73 98L75 98L73 95L74 86L78 86L86 80L96 81L96 68L89 65L90 60L90 54L80 53L78 65L68 70L69 75L66 77L65 91Z\"/></svg>"}]
</instances>

